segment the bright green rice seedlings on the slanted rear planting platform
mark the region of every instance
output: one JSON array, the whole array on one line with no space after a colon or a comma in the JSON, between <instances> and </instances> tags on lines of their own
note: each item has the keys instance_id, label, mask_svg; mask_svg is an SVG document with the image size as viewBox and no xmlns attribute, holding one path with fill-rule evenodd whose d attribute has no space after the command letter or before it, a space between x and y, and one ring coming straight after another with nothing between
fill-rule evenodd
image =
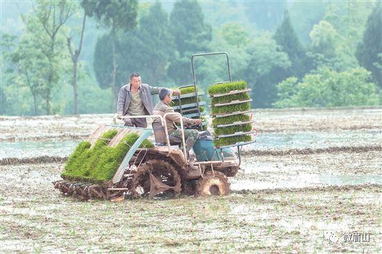
<instances>
[{"instance_id":1,"label":"bright green rice seedlings on the slanted rear planting platform","mask_svg":"<svg viewBox=\"0 0 382 254\"><path fill-rule=\"evenodd\" d=\"M61 177L65 180L100 184L111 180L130 147L140 137L137 133L128 133L117 146L107 146L116 134L117 130L107 131L92 149L88 141L78 144L65 164L65 171ZM153 144L145 139L140 147L153 147Z\"/></svg>"}]
</instances>

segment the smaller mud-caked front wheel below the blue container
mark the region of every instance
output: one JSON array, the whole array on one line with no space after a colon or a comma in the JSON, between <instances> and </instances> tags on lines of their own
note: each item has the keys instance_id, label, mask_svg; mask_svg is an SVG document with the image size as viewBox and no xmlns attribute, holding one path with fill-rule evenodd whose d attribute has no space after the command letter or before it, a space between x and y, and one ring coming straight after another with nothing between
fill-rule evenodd
<instances>
[{"instance_id":1,"label":"smaller mud-caked front wheel below the blue container","mask_svg":"<svg viewBox=\"0 0 382 254\"><path fill-rule=\"evenodd\" d=\"M219 171L208 171L197 183L197 196L228 195L229 191L228 178Z\"/></svg>"}]
</instances>

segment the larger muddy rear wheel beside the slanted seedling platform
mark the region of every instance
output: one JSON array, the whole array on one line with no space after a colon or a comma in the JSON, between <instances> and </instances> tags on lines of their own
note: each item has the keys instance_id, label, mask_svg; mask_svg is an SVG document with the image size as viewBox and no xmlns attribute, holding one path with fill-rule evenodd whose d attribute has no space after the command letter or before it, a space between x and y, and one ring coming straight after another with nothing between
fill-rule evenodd
<instances>
[{"instance_id":1,"label":"larger muddy rear wheel beside the slanted seedling platform","mask_svg":"<svg viewBox=\"0 0 382 254\"><path fill-rule=\"evenodd\" d=\"M148 160L137 169L131 183L131 194L137 198L181 192L181 177L175 167L164 160Z\"/></svg>"}]
</instances>

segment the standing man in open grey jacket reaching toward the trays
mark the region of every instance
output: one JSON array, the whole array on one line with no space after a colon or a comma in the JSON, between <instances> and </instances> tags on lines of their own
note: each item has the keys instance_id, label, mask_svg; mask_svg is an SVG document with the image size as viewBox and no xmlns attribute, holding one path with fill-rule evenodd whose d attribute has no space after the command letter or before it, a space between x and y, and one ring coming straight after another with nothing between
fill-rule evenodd
<instances>
[{"instance_id":1,"label":"standing man in open grey jacket reaching toward the trays","mask_svg":"<svg viewBox=\"0 0 382 254\"><path fill-rule=\"evenodd\" d=\"M133 73L130 75L130 83L124 85L119 90L117 115L120 119L122 116L142 116L152 115L153 101L152 94L158 94L162 87L152 87L151 85L142 84L140 74ZM179 90L174 94L181 94ZM136 126L147 128L146 118L124 119L125 126Z\"/></svg>"}]
</instances>

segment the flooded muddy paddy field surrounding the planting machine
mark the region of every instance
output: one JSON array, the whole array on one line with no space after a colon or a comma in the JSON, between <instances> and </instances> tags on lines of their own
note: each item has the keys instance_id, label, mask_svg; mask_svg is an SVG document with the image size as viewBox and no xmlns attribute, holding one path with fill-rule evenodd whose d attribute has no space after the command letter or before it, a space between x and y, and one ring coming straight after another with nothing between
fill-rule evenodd
<instances>
[{"instance_id":1,"label":"flooded muddy paddy field surrounding the planting machine","mask_svg":"<svg viewBox=\"0 0 382 254\"><path fill-rule=\"evenodd\" d=\"M51 182L113 115L1 117L0 253L381 253L382 108L254 119L229 196L112 203Z\"/></svg>"}]
</instances>

